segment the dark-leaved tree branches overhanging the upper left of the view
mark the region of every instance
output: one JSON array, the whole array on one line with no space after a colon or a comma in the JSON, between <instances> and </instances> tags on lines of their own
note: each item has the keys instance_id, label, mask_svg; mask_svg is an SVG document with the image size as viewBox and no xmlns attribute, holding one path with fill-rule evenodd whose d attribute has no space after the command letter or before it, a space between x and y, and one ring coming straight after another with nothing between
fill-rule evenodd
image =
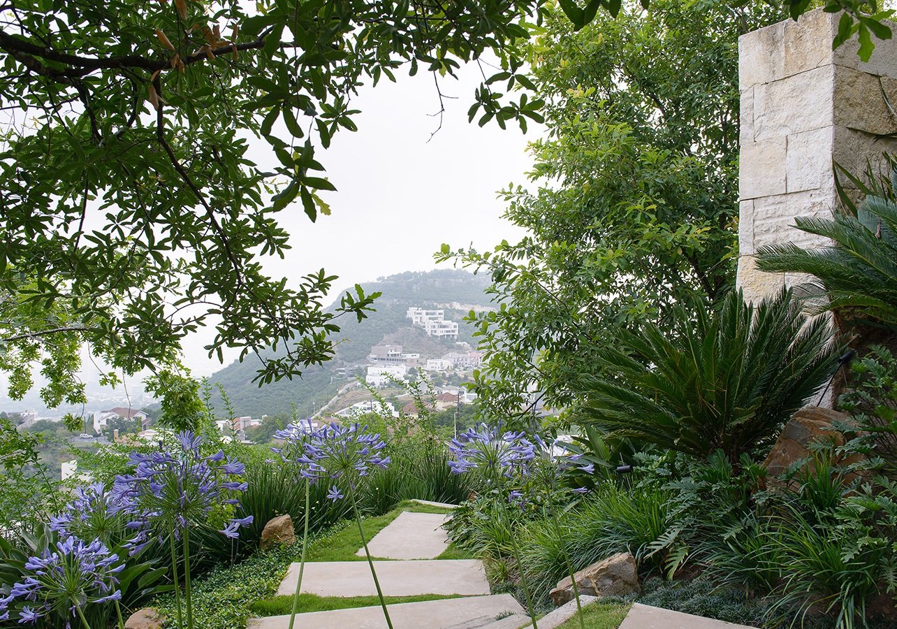
<instances>
[{"instance_id":1,"label":"dark-leaved tree branches overhanging the upper left of the view","mask_svg":"<svg viewBox=\"0 0 897 629\"><path fill-rule=\"evenodd\" d=\"M210 354L258 354L263 382L326 361L336 319L362 319L376 295L356 286L326 311L334 276L288 284L260 264L289 248L276 219L293 201L312 221L329 212L316 147L355 130L359 86L400 66L439 80L492 50L513 79L539 4L0 4L0 369L13 395L40 361L48 404L83 401L81 345L133 373L209 324ZM476 93L501 126L541 119L538 106ZM252 135L274 164L250 159Z\"/></svg>"}]
</instances>

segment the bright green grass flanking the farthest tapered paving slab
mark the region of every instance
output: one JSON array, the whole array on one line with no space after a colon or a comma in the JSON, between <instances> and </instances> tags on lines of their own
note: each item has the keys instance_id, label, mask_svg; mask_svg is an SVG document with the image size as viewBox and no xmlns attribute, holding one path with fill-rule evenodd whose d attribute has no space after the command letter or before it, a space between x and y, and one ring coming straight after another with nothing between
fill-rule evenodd
<instances>
[{"instance_id":1,"label":"bright green grass flanking the farthest tapered paving slab","mask_svg":"<svg viewBox=\"0 0 897 629\"><path fill-rule=\"evenodd\" d=\"M364 529L364 537L370 540L377 535L382 529L385 529L389 522L396 520L402 511L411 511L413 513L448 513L451 511L443 507L436 507L431 504L421 504L420 502L405 501L401 502L396 509L389 511L386 515L376 518L365 518L361 522L361 528ZM355 555L361 548L361 536L358 533L358 525L353 521L345 527L335 530L325 537L318 538L314 544L309 544L309 553L306 555L307 562L363 562L367 561L364 554ZM377 557L374 557L375 559ZM474 555L463 548L455 545L449 545L445 552L437 559L473 559Z\"/></svg>"}]
</instances>

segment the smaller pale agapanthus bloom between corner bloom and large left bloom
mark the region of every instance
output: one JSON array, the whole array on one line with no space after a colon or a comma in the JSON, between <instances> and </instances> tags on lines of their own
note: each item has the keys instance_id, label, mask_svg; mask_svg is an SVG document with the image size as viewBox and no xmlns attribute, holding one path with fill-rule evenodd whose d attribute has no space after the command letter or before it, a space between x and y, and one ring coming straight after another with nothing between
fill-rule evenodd
<instances>
[{"instance_id":1,"label":"smaller pale agapanthus bloom between corner bloom and large left bloom","mask_svg":"<svg viewBox=\"0 0 897 629\"><path fill-rule=\"evenodd\" d=\"M126 496L111 492L102 483L79 487L75 498L57 516L50 518L49 528L59 537L99 538L109 544L113 535L124 537Z\"/></svg>"}]
</instances>

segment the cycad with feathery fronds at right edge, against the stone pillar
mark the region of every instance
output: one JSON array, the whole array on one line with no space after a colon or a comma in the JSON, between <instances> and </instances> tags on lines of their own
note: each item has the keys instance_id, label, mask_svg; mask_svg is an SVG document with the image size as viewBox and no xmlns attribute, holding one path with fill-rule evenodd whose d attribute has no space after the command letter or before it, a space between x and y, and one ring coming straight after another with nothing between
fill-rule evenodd
<instances>
[{"instance_id":1,"label":"cycad with feathery fronds at right edge, against the stone pillar","mask_svg":"<svg viewBox=\"0 0 897 629\"><path fill-rule=\"evenodd\" d=\"M800 249L792 243L760 250L763 271L798 272L817 281L798 287L816 310L897 327L897 205L870 196L857 214L797 218L797 228L834 240L829 247Z\"/></svg>"}]
</instances>

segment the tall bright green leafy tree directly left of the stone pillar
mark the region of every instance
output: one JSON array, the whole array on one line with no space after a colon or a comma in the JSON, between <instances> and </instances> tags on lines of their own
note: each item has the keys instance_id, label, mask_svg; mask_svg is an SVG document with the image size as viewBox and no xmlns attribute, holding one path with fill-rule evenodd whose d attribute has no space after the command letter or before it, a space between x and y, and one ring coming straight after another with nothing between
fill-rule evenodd
<instances>
[{"instance_id":1,"label":"tall bright green leafy tree directly left of the stone pillar","mask_svg":"<svg viewBox=\"0 0 897 629\"><path fill-rule=\"evenodd\" d=\"M538 188L503 193L527 236L438 254L491 273L501 301L470 317L486 351L475 371L486 408L517 414L532 391L570 404L570 384L621 328L669 328L673 305L716 301L733 284L737 38L780 17L658 0L573 31L546 10L533 45L548 127L532 147Z\"/></svg>"}]
</instances>

